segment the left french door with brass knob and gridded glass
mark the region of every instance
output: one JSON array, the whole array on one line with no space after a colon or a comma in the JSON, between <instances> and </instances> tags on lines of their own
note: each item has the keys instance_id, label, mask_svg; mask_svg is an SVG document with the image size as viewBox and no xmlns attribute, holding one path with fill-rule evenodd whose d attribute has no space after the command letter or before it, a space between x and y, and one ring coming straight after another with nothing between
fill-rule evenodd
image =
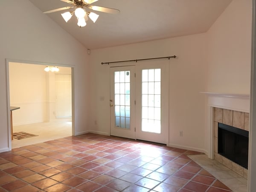
<instances>
[{"instance_id":1,"label":"left french door with brass knob and gridded glass","mask_svg":"<svg viewBox=\"0 0 256 192\"><path fill-rule=\"evenodd\" d=\"M111 67L111 135L135 137L135 67Z\"/></svg>"}]
</instances>

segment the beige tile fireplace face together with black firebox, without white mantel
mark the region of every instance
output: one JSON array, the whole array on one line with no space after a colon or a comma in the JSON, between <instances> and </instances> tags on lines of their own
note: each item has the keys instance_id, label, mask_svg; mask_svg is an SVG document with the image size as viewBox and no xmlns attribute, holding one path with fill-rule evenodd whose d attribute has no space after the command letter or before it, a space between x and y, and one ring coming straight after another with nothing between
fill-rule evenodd
<instances>
[{"instance_id":1,"label":"beige tile fireplace face together with black firebox, without white mantel","mask_svg":"<svg viewBox=\"0 0 256 192\"><path fill-rule=\"evenodd\" d=\"M241 139L238 135L248 137L245 133L249 130L249 113L224 108L213 108L213 111L214 159L247 178L248 143L244 144L244 138ZM243 140L243 142L238 142L238 140ZM238 143L242 143L242 146L238 147ZM240 162L240 164L241 160L237 157L241 156L241 153L247 154L245 157L247 160L243 159L243 163Z\"/></svg>"}]
</instances>

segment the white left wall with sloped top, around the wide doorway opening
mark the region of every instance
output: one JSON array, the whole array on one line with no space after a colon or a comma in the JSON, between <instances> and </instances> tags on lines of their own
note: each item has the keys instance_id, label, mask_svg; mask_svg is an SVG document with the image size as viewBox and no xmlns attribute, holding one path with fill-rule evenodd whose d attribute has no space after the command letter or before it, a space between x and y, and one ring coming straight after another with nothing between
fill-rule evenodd
<instances>
[{"instance_id":1,"label":"white left wall with sloped top, around the wide doorway opening","mask_svg":"<svg viewBox=\"0 0 256 192\"><path fill-rule=\"evenodd\" d=\"M88 125L89 96L86 48L28 0L0 1L0 151L9 149L6 58L73 65L75 130Z\"/></svg>"}]
</instances>

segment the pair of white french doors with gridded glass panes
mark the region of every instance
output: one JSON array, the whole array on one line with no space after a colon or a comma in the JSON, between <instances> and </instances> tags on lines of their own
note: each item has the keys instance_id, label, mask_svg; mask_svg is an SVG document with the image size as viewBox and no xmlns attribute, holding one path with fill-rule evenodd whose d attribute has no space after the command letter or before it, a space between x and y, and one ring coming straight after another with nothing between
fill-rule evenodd
<instances>
[{"instance_id":1,"label":"pair of white french doors with gridded glass panes","mask_svg":"<svg viewBox=\"0 0 256 192\"><path fill-rule=\"evenodd\" d=\"M111 135L168 143L168 68L111 67ZM135 77L136 73L136 77Z\"/></svg>"}]
</instances>

